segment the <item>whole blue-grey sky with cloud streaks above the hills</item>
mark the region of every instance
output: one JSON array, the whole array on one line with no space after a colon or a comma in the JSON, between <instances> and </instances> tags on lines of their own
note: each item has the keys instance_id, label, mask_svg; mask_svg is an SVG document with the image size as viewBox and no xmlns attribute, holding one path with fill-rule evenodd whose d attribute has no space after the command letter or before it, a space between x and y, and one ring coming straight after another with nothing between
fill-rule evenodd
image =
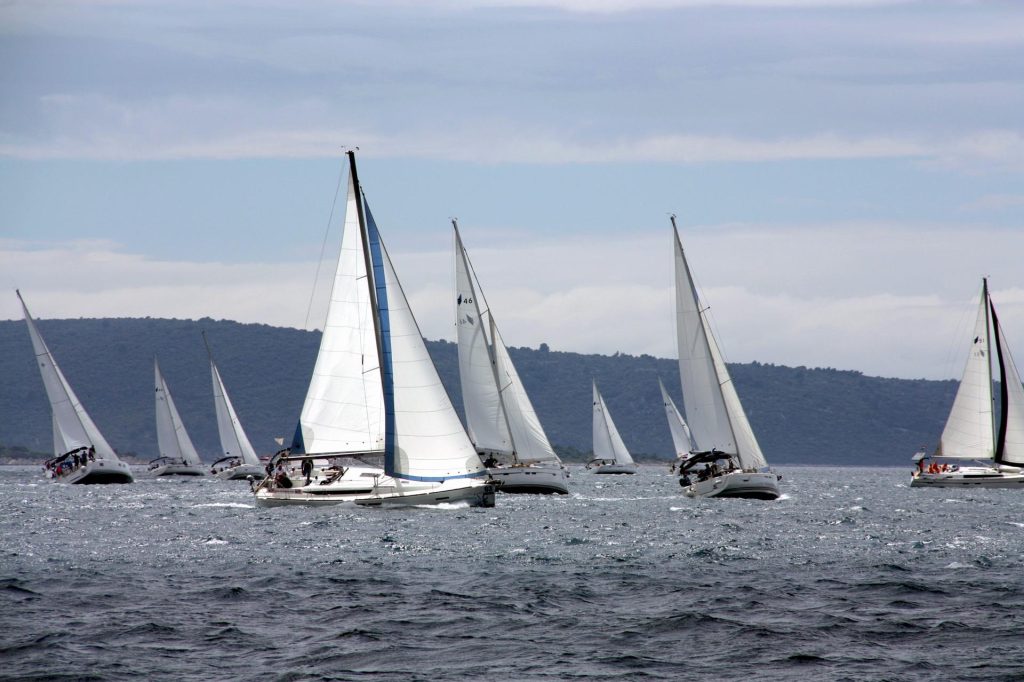
<instances>
[{"instance_id":1,"label":"whole blue-grey sky with cloud streaks above the hills","mask_svg":"<svg viewBox=\"0 0 1024 682\"><path fill-rule=\"evenodd\" d=\"M1024 357L1024 3L13 0L0 93L0 318L317 328L357 146L428 338L457 216L507 343L675 356L673 213L730 361L956 378L983 275Z\"/></svg>"}]
</instances>

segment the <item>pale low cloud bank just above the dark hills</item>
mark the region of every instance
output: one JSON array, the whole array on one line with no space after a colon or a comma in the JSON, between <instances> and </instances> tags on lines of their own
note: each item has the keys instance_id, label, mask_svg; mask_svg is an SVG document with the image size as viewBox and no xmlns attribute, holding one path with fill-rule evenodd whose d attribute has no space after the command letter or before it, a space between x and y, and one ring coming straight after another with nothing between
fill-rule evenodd
<instances>
[{"instance_id":1,"label":"pale low cloud bank just above the dark hills","mask_svg":"<svg viewBox=\"0 0 1024 682\"><path fill-rule=\"evenodd\" d=\"M675 355L668 226L587 242L511 231L464 237L510 345ZM956 377L982 273L991 275L1012 346L1024 348L1016 256L1024 235L1017 230L719 225L685 228L683 241L733 361ZM391 250L424 335L454 339L452 254ZM103 243L0 242L0 271L43 317L211 316L304 327L314 269L161 261ZM332 274L333 263L322 279ZM326 282L317 292L309 327L324 317ZM2 297L0 317L19 316L13 294Z\"/></svg>"}]
</instances>

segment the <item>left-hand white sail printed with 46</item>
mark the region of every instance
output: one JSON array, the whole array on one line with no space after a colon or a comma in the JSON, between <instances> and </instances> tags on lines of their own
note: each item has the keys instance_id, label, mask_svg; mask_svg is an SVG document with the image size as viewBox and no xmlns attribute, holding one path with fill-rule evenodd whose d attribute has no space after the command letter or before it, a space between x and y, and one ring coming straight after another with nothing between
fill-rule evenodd
<instances>
[{"instance_id":1,"label":"left-hand white sail printed with 46","mask_svg":"<svg viewBox=\"0 0 1024 682\"><path fill-rule=\"evenodd\" d=\"M512 436L498 392L493 358L490 310L474 282L469 257L455 230L456 327L459 335L459 382L466 429L479 451L513 454Z\"/></svg>"}]
</instances>

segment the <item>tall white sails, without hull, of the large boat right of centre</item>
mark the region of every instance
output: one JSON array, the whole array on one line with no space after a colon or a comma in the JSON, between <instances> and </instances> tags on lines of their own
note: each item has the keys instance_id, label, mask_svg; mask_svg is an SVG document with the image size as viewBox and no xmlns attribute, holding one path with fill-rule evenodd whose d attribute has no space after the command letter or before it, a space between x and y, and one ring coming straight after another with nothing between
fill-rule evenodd
<instances>
[{"instance_id":1,"label":"tall white sails, without hull, of the large boat right of centre","mask_svg":"<svg viewBox=\"0 0 1024 682\"><path fill-rule=\"evenodd\" d=\"M679 232L676 242L676 330L686 419L699 451L736 455L744 469L767 466L700 307Z\"/></svg>"}]
</instances>

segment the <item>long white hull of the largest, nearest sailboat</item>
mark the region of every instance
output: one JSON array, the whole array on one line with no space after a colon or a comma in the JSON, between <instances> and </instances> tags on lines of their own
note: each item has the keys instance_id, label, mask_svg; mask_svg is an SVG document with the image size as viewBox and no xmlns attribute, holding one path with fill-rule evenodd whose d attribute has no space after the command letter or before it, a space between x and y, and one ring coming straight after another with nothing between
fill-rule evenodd
<instances>
[{"instance_id":1,"label":"long white hull of the largest, nearest sailboat","mask_svg":"<svg viewBox=\"0 0 1024 682\"><path fill-rule=\"evenodd\" d=\"M460 478L440 482L395 481L385 478L370 489L355 491L350 481L342 484L305 485L302 487L260 487L256 506L351 505L357 507L421 507L441 504L466 504L470 507L494 507L495 485L484 480Z\"/></svg>"}]
</instances>

